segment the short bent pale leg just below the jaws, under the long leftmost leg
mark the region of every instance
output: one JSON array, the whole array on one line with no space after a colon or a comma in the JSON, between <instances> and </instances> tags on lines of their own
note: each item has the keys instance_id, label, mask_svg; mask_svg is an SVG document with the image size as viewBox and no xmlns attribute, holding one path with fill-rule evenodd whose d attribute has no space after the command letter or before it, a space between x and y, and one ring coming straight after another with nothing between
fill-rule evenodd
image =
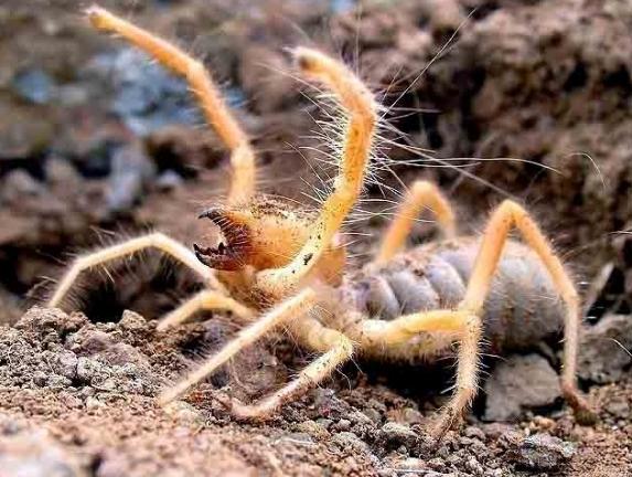
<instances>
[{"instance_id":1,"label":"short bent pale leg just below the jaws, under the long leftmost leg","mask_svg":"<svg viewBox=\"0 0 632 477\"><path fill-rule=\"evenodd\" d=\"M255 311L240 303L235 301L233 298L215 290L202 290L186 299L186 301L161 319L157 329L159 331L163 331L167 328L171 328L183 322L197 311L211 309L232 311L246 322L250 322L255 319Z\"/></svg>"}]
</instances>

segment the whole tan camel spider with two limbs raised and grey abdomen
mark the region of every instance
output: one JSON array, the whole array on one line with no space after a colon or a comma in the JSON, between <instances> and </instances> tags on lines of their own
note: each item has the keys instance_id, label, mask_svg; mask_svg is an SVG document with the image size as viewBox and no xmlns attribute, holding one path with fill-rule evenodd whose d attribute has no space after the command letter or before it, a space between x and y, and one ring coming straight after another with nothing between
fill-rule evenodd
<instances>
[{"instance_id":1,"label":"whole tan camel spider with two limbs raised and grey abdomen","mask_svg":"<svg viewBox=\"0 0 632 477\"><path fill-rule=\"evenodd\" d=\"M175 326L203 309L229 310L248 325L167 389L161 403L183 395L281 325L298 343L322 354L289 384L258 402L219 398L238 418L270 417L354 354L435 359L459 343L453 396L435 430L441 436L476 393L483 337L496 349L515 349L537 343L564 324L564 394L576 412L590 414L576 385L578 294L535 221L517 203L505 201L497 206L481 237L459 236L447 200L432 184L418 181L387 230L377 257L361 269L345 271L336 234L361 195L378 108L371 92L343 64L314 50L293 50L301 76L331 93L344 116L333 189L320 210L303 210L255 193L255 153L201 63L100 8L93 7L87 14L97 29L119 34L185 77L232 152L228 200L201 215L221 230L223 241L217 246L194 246L193 254L162 234L140 236L78 257L50 301L57 306L81 272L147 247L172 255L206 280L207 289L169 314L158 328ZM403 251L425 208L436 214L444 239ZM514 227L526 245L507 240Z\"/></svg>"}]
</instances>

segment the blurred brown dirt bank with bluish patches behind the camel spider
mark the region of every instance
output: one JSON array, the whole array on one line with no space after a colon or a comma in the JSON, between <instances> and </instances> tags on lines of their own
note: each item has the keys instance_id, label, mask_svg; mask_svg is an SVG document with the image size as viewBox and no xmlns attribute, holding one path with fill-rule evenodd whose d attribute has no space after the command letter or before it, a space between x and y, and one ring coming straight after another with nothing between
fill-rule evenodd
<instances>
[{"instance_id":1,"label":"blurred brown dirt bank with bluish patches behind the camel spider","mask_svg":"<svg viewBox=\"0 0 632 477\"><path fill-rule=\"evenodd\" d=\"M207 64L253 137L264 190L301 199L318 184L310 148L322 145L310 131L319 109L285 52L318 46L356 68L389 108L399 132L387 137L403 146L384 148L399 178L385 173L386 186L438 182L472 232L503 198L523 201L582 284L591 319L630 311L629 2L98 4ZM208 232L195 213L225 192L226 152L186 85L93 31L87 6L0 4L0 320L42 299L82 250L150 229L190 246ZM352 226L371 235L357 257L369 253L388 218L375 212L393 198L366 205L369 220ZM427 236L420 223L415 240ZM115 271L116 286L85 280L77 301L94 320L117 320L126 307L159 316L195 285L150 258Z\"/></svg>"}]
</instances>

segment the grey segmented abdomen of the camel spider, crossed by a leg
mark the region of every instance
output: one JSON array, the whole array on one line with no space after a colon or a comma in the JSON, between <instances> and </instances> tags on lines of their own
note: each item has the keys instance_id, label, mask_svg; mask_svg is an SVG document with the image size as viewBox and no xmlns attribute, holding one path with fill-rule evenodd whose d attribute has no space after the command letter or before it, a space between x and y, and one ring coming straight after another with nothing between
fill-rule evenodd
<instances>
[{"instance_id":1,"label":"grey segmented abdomen of the camel spider, crossed by a leg","mask_svg":"<svg viewBox=\"0 0 632 477\"><path fill-rule=\"evenodd\" d=\"M368 318L454 308L463 298L479 248L462 237L417 246L378 268L366 266L343 285L347 306ZM483 312L492 351L536 344L558 331L564 304L539 258L508 241Z\"/></svg>"}]
</instances>

